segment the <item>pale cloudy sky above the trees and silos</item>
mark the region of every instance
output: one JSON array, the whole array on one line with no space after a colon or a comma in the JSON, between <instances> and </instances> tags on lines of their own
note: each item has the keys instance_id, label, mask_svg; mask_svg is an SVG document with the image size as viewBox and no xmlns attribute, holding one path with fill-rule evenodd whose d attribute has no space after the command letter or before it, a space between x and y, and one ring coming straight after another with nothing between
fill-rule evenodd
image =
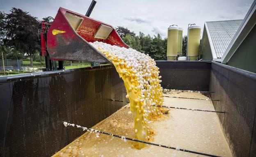
<instances>
[{"instance_id":1,"label":"pale cloudy sky above the trees and silos","mask_svg":"<svg viewBox=\"0 0 256 157\"><path fill-rule=\"evenodd\" d=\"M124 26L139 33L167 36L171 24L183 27L196 23L203 29L205 21L243 19L253 0L96 0L91 18ZM0 11L9 13L11 7L28 11L40 20L55 17L59 7L85 14L91 0L0 0ZM203 32L203 30L201 30Z\"/></svg>"}]
</instances>

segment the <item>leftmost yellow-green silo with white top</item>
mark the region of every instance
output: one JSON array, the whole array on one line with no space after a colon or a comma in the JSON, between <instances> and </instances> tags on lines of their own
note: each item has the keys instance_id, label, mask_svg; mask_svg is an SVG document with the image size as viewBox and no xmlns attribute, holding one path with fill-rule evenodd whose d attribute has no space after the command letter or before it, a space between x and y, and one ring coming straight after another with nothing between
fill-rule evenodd
<instances>
[{"instance_id":1,"label":"leftmost yellow-green silo with white top","mask_svg":"<svg viewBox=\"0 0 256 157\"><path fill-rule=\"evenodd\" d=\"M170 26L167 36L167 60L175 60L178 54L178 27Z\"/></svg>"}]
</instances>

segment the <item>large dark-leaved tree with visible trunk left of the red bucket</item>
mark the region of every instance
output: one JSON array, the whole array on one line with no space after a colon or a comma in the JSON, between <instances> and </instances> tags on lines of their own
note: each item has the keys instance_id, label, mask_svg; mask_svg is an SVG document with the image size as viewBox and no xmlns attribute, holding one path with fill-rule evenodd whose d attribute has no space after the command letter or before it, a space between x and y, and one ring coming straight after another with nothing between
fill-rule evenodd
<instances>
[{"instance_id":1,"label":"large dark-leaved tree with visible trunk left of the red bucket","mask_svg":"<svg viewBox=\"0 0 256 157\"><path fill-rule=\"evenodd\" d=\"M37 18L17 8L12 8L11 13L5 15L4 42L8 46L14 46L21 54L27 55L30 58L30 66L33 66L33 55L40 48L37 39Z\"/></svg>"}]
</instances>

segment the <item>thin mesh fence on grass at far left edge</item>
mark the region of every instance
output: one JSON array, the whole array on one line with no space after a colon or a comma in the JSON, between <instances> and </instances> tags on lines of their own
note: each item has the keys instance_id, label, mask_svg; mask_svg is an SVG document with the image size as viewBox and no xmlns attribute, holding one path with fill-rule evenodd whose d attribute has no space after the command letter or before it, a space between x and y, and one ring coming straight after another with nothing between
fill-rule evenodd
<instances>
[{"instance_id":1,"label":"thin mesh fence on grass at far left edge","mask_svg":"<svg viewBox=\"0 0 256 157\"><path fill-rule=\"evenodd\" d=\"M22 60L4 60L5 62L5 70L21 70L23 66ZM4 70L4 66L2 64L2 60L0 60L0 70Z\"/></svg>"}]
</instances>

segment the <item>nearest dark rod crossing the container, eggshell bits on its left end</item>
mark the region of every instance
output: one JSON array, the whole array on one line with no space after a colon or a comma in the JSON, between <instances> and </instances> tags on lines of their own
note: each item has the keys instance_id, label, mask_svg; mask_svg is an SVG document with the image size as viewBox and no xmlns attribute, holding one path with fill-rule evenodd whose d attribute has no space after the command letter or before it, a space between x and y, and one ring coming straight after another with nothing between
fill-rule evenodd
<instances>
[{"instance_id":1,"label":"nearest dark rod crossing the container, eggshell bits on its left end","mask_svg":"<svg viewBox=\"0 0 256 157\"><path fill-rule=\"evenodd\" d=\"M176 148L176 147L165 146L165 145L155 144L155 143L151 143L151 142L141 141L141 140L138 140L138 139L132 139L132 138L129 138L129 137L124 137L124 136L120 136L120 135L106 133L106 132L103 132L103 131L100 131L100 130L94 130L92 128L82 127L80 125L70 124L68 122L63 122L63 124L64 124L64 126L73 126L73 127L76 126L77 128L81 128L82 130L87 130L87 131L91 131L91 132L95 132L95 133L101 133L101 134L105 134L105 135L109 135L109 136L118 137L118 138L121 138L121 139L127 139L127 140L130 140L130 141L144 143L144 144L150 144L150 145L153 145L153 146L169 148L169 149L174 149L174 150L177 150L177 151L179 150L179 151L193 153L193 154L205 155L205 156L208 156L208 157L220 157L220 156L217 156L217 155L211 155L211 154L196 152L196 151L193 151L193 150L186 150L186 149L183 149L183 148Z\"/></svg>"}]
</instances>

